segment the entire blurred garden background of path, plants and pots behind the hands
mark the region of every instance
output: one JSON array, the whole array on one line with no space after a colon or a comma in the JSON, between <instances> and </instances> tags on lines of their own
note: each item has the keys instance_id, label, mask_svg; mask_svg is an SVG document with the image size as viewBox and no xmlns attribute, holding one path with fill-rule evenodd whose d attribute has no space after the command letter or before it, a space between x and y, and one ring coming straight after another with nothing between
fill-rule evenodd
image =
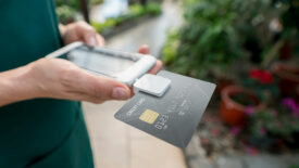
<instances>
[{"instance_id":1,"label":"entire blurred garden background of path, plants and pots behind the hands","mask_svg":"<svg viewBox=\"0 0 299 168\"><path fill-rule=\"evenodd\" d=\"M108 47L146 43L166 70L217 85L183 151L115 120L126 102L84 102L96 167L299 168L298 0L55 2Z\"/></svg>"}]
</instances>

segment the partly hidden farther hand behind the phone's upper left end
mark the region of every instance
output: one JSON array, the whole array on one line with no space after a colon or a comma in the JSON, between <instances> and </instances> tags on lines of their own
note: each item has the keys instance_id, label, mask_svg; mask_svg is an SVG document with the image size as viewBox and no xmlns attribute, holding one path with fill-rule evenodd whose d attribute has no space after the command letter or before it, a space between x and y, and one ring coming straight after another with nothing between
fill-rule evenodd
<instances>
[{"instance_id":1,"label":"partly hidden farther hand behind the phone's upper left end","mask_svg":"<svg viewBox=\"0 0 299 168\"><path fill-rule=\"evenodd\" d=\"M76 22L66 26L60 24L59 29L64 44L83 41L87 44L102 47L105 43L103 37L86 22Z\"/></svg>"}]
</instances>

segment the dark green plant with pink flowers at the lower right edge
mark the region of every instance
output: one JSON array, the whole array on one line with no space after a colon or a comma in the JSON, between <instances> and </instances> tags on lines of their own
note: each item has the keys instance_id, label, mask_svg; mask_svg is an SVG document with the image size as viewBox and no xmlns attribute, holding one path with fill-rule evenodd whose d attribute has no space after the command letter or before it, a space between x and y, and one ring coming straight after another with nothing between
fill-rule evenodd
<instances>
[{"instance_id":1,"label":"dark green plant with pink flowers at the lower right edge","mask_svg":"<svg viewBox=\"0 0 299 168\"><path fill-rule=\"evenodd\" d=\"M291 98L249 114L247 142L259 148L270 150L278 143L299 147L299 104Z\"/></svg>"}]
</instances>

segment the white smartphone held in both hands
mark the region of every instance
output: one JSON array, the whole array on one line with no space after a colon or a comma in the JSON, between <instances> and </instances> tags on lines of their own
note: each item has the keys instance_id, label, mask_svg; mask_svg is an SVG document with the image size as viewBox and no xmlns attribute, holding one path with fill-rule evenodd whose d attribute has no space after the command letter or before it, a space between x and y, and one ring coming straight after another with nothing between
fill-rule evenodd
<instances>
[{"instance_id":1,"label":"white smartphone held in both hands","mask_svg":"<svg viewBox=\"0 0 299 168\"><path fill-rule=\"evenodd\" d=\"M83 42L67 44L46 57L67 60L91 74L107 76L127 86L132 86L157 62L152 55L91 47Z\"/></svg>"}]
</instances>

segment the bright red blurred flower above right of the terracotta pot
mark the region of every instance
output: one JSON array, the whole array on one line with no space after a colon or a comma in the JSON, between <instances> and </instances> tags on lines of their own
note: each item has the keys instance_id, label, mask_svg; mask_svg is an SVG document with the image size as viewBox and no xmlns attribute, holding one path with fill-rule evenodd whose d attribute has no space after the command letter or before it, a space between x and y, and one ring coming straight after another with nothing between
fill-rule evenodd
<instances>
[{"instance_id":1,"label":"bright red blurred flower above right of the terracotta pot","mask_svg":"<svg viewBox=\"0 0 299 168\"><path fill-rule=\"evenodd\" d=\"M252 69L249 73L250 78L257 79L261 83L272 83L273 76L270 72L263 69Z\"/></svg>"}]
</instances>

